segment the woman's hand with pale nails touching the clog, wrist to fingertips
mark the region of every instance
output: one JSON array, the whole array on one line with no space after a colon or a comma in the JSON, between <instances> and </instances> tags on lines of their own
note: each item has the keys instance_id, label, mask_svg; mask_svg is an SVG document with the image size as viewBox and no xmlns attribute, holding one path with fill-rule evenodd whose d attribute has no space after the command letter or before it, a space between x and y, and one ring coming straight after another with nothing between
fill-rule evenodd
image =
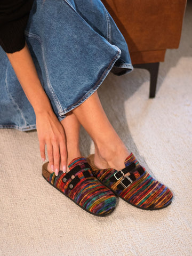
<instances>
[{"instance_id":1,"label":"woman's hand with pale nails touching the clog, wrist to fingertips","mask_svg":"<svg viewBox=\"0 0 192 256\"><path fill-rule=\"evenodd\" d=\"M39 140L39 148L43 161L45 161L45 144L52 171L58 175L60 163L62 171L66 172L67 149L66 137L63 126L53 111L45 111L36 114L36 127Z\"/></svg>"}]
</instances>

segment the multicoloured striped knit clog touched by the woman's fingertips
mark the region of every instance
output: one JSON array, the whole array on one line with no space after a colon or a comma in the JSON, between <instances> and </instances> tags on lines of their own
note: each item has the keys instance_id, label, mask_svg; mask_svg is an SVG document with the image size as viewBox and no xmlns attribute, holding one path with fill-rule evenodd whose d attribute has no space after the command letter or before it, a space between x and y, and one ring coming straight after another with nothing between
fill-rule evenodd
<instances>
[{"instance_id":1,"label":"multicoloured striped knit clog touched by the woman's fingertips","mask_svg":"<svg viewBox=\"0 0 192 256\"><path fill-rule=\"evenodd\" d=\"M47 171L48 163L42 166L43 177L82 209L97 216L105 216L115 209L116 196L94 177L85 157L75 158L69 164L70 171L60 171L58 176Z\"/></svg>"}]
</instances>

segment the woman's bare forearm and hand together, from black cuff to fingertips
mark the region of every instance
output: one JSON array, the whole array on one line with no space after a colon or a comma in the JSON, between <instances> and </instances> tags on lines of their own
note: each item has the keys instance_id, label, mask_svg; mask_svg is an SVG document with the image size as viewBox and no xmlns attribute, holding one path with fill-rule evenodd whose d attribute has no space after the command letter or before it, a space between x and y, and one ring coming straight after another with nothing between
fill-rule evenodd
<instances>
[{"instance_id":1,"label":"woman's bare forearm and hand together, from black cuff to fingertips","mask_svg":"<svg viewBox=\"0 0 192 256\"><path fill-rule=\"evenodd\" d=\"M58 175L61 162L62 170L65 172L67 165L65 131L57 116L53 113L49 98L39 81L27 44L19 52L7 53L7 57L26 97L34 108L39 146L43 160L45 160L46 144L52 170Z\"/></svg>"}]
</instances>

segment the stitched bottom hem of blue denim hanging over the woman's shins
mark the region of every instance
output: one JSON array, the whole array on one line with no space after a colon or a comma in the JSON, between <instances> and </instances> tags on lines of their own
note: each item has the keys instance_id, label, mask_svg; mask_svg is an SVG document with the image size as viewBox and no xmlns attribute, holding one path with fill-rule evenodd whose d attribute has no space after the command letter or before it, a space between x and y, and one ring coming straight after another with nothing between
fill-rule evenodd
<instances>
[{"instance_id":1,"label":"stitched bottom hem of blue denim hanging over the woman's shins","mask_svg":"<svg viewBox=\"0 0 192 256\"><path fill-rule=\"evenodd\" d=\"M114 45L115 46L115 45ZM115 57L113 58L113 60L111 60L111 62L109 63L108 67L105 69L105 71L103 71L102 75L100 76L100 78L98 79L98 81L93 85L92 89L87 92L86 94L84 94L84 96L78 100L76 103L74 103L73 105L71 105L68 108L63 109L62 112L59 112L58 114L60 115L60 117L64 117L65 118L65 114L67 114L68 112L70 112L71 110L73 110L74 108L78 107L79 105L81 105L86 99L88 99L95 91L97 91L97 89L99 88L99 86L102 84L102 82L105 80L106 76L109 74L111 68L113 68L114 63L119 59L119 57L121 56L121 50L115 46L117 49L117 53L115 55Z\"/></svg>"}]
</instances>

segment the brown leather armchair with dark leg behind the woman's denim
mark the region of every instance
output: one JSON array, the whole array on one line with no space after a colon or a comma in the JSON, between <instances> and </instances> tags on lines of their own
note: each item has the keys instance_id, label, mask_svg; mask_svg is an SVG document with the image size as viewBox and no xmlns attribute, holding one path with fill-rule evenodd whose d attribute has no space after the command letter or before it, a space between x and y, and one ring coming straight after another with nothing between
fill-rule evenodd
<instances>
[{"instance_id":1,"label":"brown leather armchair with dark leg behind the woman's denim","mask_svg":"<svg viewBox=\"0 0 192 256\"><path fill-rule=\"evenodd\" d=\"M155 97L159 62L179 47L187 0L102 0L129 46L133 67L150 73Z\"/></svg>"}]
</instances>

